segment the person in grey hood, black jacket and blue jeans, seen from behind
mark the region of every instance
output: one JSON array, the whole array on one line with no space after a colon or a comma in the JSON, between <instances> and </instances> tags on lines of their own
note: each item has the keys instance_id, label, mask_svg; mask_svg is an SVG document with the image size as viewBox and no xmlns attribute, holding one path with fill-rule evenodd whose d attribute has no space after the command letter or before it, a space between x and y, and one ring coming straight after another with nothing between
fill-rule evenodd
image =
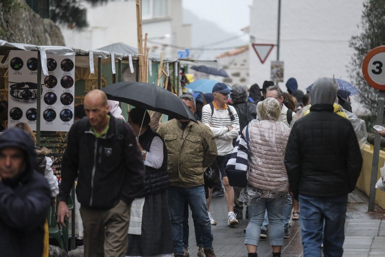
<instances>
[{"instance_id":1,"label":"person in grey hood, black jacket and blue jeans, seen from behind","mask_svg":"<svg viewBox=\"0 0 385 257\"><path fill-rule=\"evenodd\" d=\"M332 79L317 79L310 113L293 125L286 146L289 185L300 202L304 256L321 257L321 243L325 256L342 256L348 193L362 168L352 124L334 113L336 97Z\"/></svg>"}]
</instances>

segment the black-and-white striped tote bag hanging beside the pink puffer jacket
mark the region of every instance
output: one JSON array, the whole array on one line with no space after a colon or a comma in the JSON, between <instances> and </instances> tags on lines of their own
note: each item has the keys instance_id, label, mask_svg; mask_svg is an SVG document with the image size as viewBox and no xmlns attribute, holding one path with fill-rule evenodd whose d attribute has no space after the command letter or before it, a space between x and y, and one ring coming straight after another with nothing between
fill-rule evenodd
<instances>
[{"instance_id":1,"label":"black-and-white striped tote bag hanging beside the pink puffer jacket","mask_svg":"<svg viewBox=\"0 0 385 257\"><path fill-rule=\"evenodd\" d=\"M246 139L242 131L235 143L233 152L226 164L225 171L230 186L245 187L249 170L249 126L246 126Z\"/></svg>"}]
</instances>

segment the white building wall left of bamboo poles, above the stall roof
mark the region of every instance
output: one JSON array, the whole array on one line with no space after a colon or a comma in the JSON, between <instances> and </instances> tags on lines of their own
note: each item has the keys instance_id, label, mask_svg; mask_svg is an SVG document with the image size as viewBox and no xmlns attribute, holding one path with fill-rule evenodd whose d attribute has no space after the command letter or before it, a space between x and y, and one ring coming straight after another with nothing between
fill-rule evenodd
<instances>
[{"instance_id":1,"label":"white building wall left of bamboo poles, above the stall roof","mask_svg":"<svg viewBox=\"0 0 385 257\"><path fill-rule=\"evenodd\" d=\"M96 6L83 1L82 5L87 9L89 27L77 30L61 26L67 46L97 49L123 42L137 47L135 0L114 0Z\"/></svg>"}]
</instances>

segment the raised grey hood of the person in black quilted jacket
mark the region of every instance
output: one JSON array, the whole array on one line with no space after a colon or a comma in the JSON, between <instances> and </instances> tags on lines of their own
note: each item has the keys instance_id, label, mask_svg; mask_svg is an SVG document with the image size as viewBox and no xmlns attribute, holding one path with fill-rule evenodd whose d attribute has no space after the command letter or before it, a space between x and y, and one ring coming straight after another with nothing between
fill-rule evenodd
<instances>
[{"instance_id":1,"label":"raised grey hood of the person in black quilted jacket","mask_svg":"<svg viewBox=\"0 0 385 257\"><path fill-rule=\"evenodd\" d=\"M333 104L337 97L337 84L328 77L317 79L310 92L310 104Z\"/></svg>"}]
</instances>

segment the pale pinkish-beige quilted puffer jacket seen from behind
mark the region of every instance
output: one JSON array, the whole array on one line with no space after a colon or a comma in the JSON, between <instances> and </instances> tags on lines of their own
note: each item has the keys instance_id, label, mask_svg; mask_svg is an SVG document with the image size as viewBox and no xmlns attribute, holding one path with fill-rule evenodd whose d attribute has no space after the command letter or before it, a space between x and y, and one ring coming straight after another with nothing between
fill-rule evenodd
<instances>
[{"instance_id":1,"label":"pale pinkish-beige quilted puffer jacket seen from behind","mask_svg":"<svg viewBox=\"0 0 385 257\"><path fill-rule=\"evenodd\" d=\"M245 134L246 129L243 130ZM254 119L249 124L248 184L274 192L288 192L289 181L283 159L290 128L283 122Z\"/></svg>"}]
</instances>

